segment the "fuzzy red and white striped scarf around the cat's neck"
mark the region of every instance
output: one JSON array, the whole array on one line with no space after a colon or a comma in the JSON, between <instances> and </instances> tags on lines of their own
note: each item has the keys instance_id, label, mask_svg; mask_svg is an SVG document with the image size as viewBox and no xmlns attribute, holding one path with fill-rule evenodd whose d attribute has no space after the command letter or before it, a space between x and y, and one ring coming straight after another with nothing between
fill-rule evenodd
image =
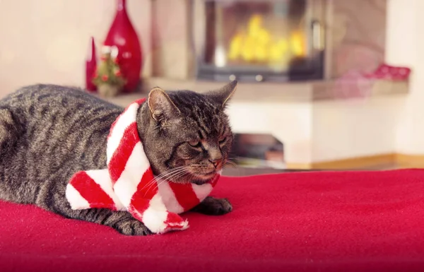
<instances>
[{"instance_id":1,"label":"fuzzy red and white striped scarf around the cat's neck","mask_svg":"<svg viewBox=\"0 0 424 272\"><path fill-rule=\"evenodd\" d=\"M185 230L188 222L178 213L203 201L220 174L202 185L156 180L137 130L137 110L144 101L133 102L112 124L107 169L77 172L66 187L66 199L73 210L129 211L154 233Z\"/></svg>"}]
</instances>

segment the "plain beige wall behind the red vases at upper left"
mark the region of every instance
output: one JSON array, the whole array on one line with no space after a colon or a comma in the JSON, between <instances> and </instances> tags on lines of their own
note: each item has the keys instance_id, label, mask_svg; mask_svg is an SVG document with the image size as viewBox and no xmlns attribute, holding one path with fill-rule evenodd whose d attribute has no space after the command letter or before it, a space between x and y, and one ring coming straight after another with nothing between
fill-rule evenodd
<instances>
[{"instance_id":1,"label":"plain beige wall behind the red vases at upper left","mask_svg":"<svg viewBox=\"0 0 424 272\"><path fill-rule=\"evenodd\" d=\"M150 0L127 0L150 73ZM99 45L115 0L0 0L0 97L22 85L83 86L90 36Z\"/></svg>"}]
</instances>

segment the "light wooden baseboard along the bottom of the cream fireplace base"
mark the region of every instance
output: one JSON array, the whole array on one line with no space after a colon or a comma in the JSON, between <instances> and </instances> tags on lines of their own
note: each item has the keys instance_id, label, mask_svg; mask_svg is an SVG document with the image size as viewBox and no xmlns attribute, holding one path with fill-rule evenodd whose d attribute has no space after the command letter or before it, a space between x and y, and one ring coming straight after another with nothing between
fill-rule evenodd
<instances>
[{"instance_id":1,"label":"light wooden baseboard along the bottom of the cream fireplace base","mask_svg":"<svg viewBox=\"0 0 424 272\"><path fill-rule=\"evenodd\" d=\"M396 169L396 168L424 168L424 155L408 155L387 153L370 155L343 160L331 160L312 163L287 163L289 169L321 169L321 170L348 170L348 169Z\"/></svg>"}]
</instances>

